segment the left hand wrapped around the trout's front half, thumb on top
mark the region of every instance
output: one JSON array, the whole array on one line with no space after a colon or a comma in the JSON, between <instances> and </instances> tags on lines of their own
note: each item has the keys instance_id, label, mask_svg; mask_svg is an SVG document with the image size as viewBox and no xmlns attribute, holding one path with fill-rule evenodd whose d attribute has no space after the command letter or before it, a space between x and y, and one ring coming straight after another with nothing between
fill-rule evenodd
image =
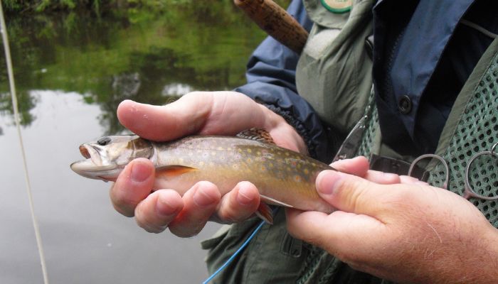
<instances>
[{"instance_id":1,"label":"left hand wrapped around the trout's front half, thumb on top","mask_svg":"<svg viewBox=\"0 0 498 284\"><path fill-rule=\"evenodd\" d=\"M277 145L306 152L302 138L281 116L237 92L192 92L166 106L124 101L117 116L127 129L152 141L190 134L235 135L258 127L270 132ZM258 189L250 182L240 182L224 196L211 182L198 182L183 197L169 189L151 193L153 184L154 166L140 158L124 168L110 190L115 209L134 216L150 232L168 227L177 236L193 236L209 219L247 219L260 202Z\"/></svg>"}]
</instances>

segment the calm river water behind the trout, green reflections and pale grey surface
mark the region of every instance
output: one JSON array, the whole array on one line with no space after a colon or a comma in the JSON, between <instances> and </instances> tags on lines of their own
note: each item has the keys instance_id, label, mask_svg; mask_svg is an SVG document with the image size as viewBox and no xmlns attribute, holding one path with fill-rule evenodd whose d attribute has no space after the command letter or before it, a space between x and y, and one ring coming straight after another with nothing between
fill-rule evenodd
<instances>
[{"instance_id":1,"label":"calm river water behind the trout, green reflections and pale grey surface","mask_svg":"<svg viewBox=\"0 0 498 284\"><path fill-rule=\"evenodd\" d=\"M120 133L123 99L164 104L192 90L244 82L264 37L229 1L171 4L167 12L8 18L22 135L51 283L199 283L198 242L148 234L112 209L110 184L69 165L78 145ZM2 53L3 54L3 53ZM0 283L43 283L21 149L0 59Z\"/></svg>"}]
</instances>

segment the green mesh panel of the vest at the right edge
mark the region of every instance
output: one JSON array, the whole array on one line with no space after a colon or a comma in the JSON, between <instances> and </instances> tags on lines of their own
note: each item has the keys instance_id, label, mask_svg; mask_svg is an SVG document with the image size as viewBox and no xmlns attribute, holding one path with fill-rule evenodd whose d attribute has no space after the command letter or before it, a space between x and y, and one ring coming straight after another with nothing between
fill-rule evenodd
<instances>
[{"instance_id":1,"label":"green mesh panel of the vest at the right edge","mask_svg":"<svg viewBox=\"0 0 498 284\"><path fill-rule=\"evenodd\" d=\"M482 76L474 94L462 113L450 146L443 158L450 168L448 190L463 195L465 169L470 159L482 151L490 151L498 142L498 55ZM495 148L495 152L498 147ZM479 155L470 165L469 184L483 196L498 195L498 155ZM443 165L435 165L429 182L440 187L444 182ZM498 227L498 204L493 200L471 198L493 226Z\"/></svg>"}]
</instances>

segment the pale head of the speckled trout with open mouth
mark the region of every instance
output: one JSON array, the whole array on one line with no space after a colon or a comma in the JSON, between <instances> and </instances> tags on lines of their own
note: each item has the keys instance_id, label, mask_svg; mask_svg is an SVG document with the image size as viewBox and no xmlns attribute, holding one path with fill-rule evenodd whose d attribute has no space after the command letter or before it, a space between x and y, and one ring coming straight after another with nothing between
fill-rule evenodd
<instances>
[{"instance_id":1,"label":"pale head of the speckled trout with open mouth","mask_svg":"<svg viewBox=\"0 0 498 284\"><path fill-rule=\"evenodd\" d=\"M85 178L115 181L124 166L134 158L151 158L154 148L150 141L137 135L104 136L80 145L85 160L70 165Z\"/></svg>"}]
</instances>

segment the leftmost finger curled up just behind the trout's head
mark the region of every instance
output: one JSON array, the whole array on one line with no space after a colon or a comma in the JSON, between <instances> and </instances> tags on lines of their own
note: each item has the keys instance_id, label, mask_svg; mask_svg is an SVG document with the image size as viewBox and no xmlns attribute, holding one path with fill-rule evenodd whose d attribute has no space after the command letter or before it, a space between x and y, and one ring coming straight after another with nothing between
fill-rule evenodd
<instances>
[{"instance_id":1,"label":"leftmost finger curled up just behind the trout's head","mask_svg":"<svg viewBox=\"0 0 498 284\"><path fill-rule=\"evenodd\" d=\"M133 217L137 204L149 195L154 185L154 165L150 160L132 160L111 187L112 205L124 216Z\"/></svg>"}]
</instances>

